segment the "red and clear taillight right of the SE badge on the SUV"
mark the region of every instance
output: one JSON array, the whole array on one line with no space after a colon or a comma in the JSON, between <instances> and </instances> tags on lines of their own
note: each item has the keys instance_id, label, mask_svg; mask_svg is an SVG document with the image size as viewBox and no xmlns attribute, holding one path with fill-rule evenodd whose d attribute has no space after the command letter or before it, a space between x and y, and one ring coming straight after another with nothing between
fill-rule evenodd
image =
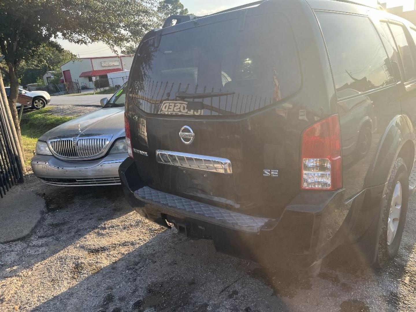
<instances>
[{"instance_id":1,"label":"red and clear taillight right of the SE badge on the SUV","mask_svg":"<svg viewBox=\"0 0 416 312\"><path fill-rule=\"evenodd\" d=\"M302 134L301 188L333 191L342 188L339 117L318 121Z\"/></svg>"}]
</instances>

